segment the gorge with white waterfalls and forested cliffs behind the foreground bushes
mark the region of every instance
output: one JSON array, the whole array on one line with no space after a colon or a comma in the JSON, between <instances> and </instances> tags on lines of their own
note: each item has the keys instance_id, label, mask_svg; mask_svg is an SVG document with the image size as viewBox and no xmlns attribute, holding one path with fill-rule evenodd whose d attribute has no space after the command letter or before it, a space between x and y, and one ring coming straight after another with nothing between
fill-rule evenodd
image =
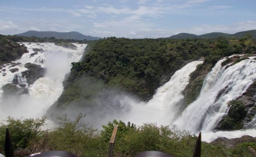
<instances>
[{"instance_id":1,"label":"gorge with white waterfalls and forested cliffs behind the foreground bushes","mask_svg":"<svg viewBox=\"0 0 256 157\"><path fill-rule=\"evenodd\" d=\"M134 47L121 45L125 40ZM82 113L82 122L100 130L117 119L137 126L175 125L195 135L201 131L207 143L219 137L256 137L254 43L228 50L225 39L207 41L209 45L196 39L144 39L152 46L148 51L155 50L148 53L144 43L136 45L140 40L129 40L19 42L28 52L1 65L0 119L46 114L51 128L58 116L75 120ZM223 49L217 58L215 53ZM238 50L243 54L232 55ZM153 57L159 62L152 63Z\"/></svg>"}]
</instances>

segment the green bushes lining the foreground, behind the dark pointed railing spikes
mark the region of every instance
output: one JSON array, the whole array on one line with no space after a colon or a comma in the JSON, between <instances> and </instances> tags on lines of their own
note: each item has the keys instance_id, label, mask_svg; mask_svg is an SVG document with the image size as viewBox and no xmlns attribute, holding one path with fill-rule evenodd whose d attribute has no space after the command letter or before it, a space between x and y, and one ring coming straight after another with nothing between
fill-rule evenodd
<instances>
[{"instance_id":1,"label":"green bushes lining the foreground, behind the dark pointed railing spikes","mask_svg":"<svg viewBox=\"0 0 256 157\"><path fill-rule=\"evenodd\" d=\"M0 153L4 152L4 135L9 127L16 157L46 150L65 150L78 157L108 155L108 144L113 125L118 124L114 157L132 157L141 151L156 150L172 154L175 157L191 157L196 137L188 131L177 130L175 126L157 126L144 124L135 126L128 122L113 120L102 131L97 131L80 122L83 115L75 121L66 115L59 117L59 125L50 130L42 130L42 119L13 119L8 117L6 124L0 125ZM86 118L86 117L85 117ZM255 149L255 143L244 142L235 147L223 147L219 144L202 144L202 156L250 157L249 147Z\"/></svg>"}]
</instances>

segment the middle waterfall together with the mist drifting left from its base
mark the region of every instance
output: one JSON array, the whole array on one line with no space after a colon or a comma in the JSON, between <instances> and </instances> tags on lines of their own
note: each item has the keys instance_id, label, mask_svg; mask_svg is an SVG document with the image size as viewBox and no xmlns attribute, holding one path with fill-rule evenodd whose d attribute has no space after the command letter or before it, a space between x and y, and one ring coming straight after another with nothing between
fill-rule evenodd
<instances>
[{"instance_id":1,"label":"middle waterfall together with the mist drifting left from its base","mask_svg":"<svg viewBox=\"0 0 256 157\"><path fill-rule=\"evenodd\" d=\"M156 94L148 102L140 101L137 97L127 94L121 89L103 89L90 99L81 94L79 101L75 100L65 107L50 109L53 115L67 114L68 118L75 119L79 113L86 116L82 119L85 124L101 129L113 119L128 121L136 125L154 122L157 125L171 125L179 102L183 99L183 90L189 83L189 75L196 65L203 61L193 61L176 71L171 80L159 87ZM92 90L96 83L89 77L84 77L79 87L82 93ZM89 89L88 89L89 88ZM55 117L54 117L55 118Z\"/></svg>"}]
</instances>

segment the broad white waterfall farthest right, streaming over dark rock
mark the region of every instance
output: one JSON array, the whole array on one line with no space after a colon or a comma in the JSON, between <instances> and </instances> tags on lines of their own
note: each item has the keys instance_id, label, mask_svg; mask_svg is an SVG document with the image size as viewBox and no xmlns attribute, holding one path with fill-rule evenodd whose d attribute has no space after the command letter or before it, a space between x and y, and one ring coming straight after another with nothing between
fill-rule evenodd
<instances>
[{"instance_id":1,"label":"broad white waterfall farthest right, streaming over dark rock","mask_svg":"<svg viewBox=\"0 0 256 157\"><path fill-rule=\"evenodd\" d=\"M178 127L197 133L211 131L229 109L227 102L242 95L256 80L254 57L235 65L221 67L222 59L216 63L204 79L199 97L192 102L174 122ZM218 99L217 95L222 90Z\"/></svg>"}]
</instances>

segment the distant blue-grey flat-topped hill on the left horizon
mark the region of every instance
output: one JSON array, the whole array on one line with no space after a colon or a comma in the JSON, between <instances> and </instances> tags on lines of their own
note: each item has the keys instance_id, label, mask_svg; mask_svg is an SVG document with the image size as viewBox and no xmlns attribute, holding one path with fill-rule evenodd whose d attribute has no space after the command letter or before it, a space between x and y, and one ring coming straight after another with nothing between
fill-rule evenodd
<instances>
[{"instance_id":1,"label":"distant blue-grey flat-topped hill on the left horizon","mask_svg":"<svg viewBox=\"0 0 256 157\"><path fill-rule=\"evenodd\" d=\"M85 36L79 32L54 32L54 31L34 31L30 30L21 34L17 34L17 36L25 36L25 37L55 37L56 39L77 39L77 40L99 40L99 37Z\"/></svg>"}]
</instances>

